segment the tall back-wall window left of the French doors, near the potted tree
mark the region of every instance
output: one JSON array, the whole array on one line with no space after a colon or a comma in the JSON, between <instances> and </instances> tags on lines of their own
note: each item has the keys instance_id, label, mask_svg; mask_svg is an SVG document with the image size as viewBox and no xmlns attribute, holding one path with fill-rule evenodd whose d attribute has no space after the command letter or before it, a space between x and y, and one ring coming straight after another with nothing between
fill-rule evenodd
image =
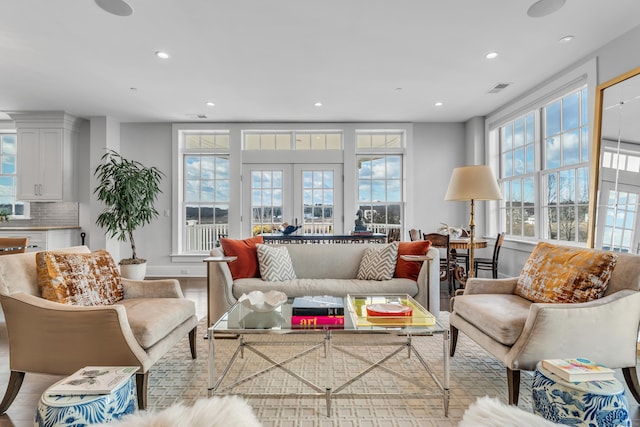
<instances>
[{"instance_id":1,"label":"tall back-wall window left of the French doors, near the potted tree","mask_svg":"<svg viewBox=\"0 0 640 427\"><path fill-rule=\"evenodd\" d=\"M229 135L183 134L183 252L205 252L229 232Z\"/></svg>"}]
</instances>

